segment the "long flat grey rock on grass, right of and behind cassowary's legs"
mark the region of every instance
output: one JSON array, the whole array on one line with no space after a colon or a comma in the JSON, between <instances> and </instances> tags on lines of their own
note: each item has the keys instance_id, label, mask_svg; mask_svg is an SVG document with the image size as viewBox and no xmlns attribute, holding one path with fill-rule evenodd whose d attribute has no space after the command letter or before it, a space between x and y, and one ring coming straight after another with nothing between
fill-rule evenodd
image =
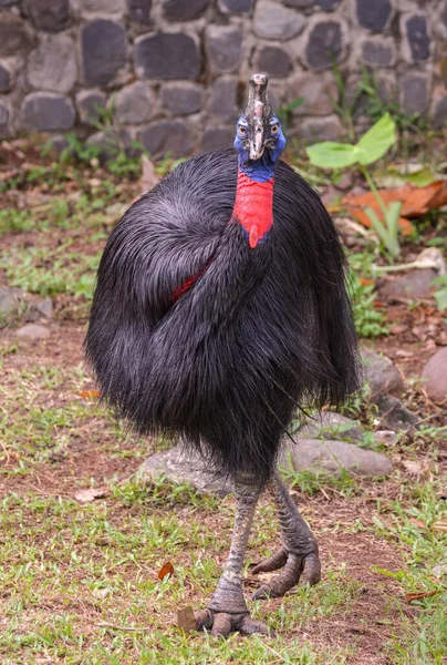
<instances>
[{"instance_id":1,"label":"long flat grey rock on grass, right of and behind cassowary's legs","mask_svg":"<svg viewBox=\"0 0 447 665\"><path fill-rule=\"evenodd\" d=\"M279 458L280 467L294 471L323 472L339 477L345 469L354 475L388 475L393 464L382 453L344 441L298 439L289 441Z\"/></svg>"}]
</instances>

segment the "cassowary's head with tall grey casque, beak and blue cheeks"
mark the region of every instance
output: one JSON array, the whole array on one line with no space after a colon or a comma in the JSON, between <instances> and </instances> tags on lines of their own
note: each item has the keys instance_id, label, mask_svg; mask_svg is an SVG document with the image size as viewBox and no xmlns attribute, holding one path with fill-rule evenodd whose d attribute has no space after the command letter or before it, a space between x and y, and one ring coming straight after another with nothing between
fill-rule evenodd
<instances>
[{"instance_id":1,"label":"cassowary's head with tall grey casque, beak and blue cheeks","mask_svg":"<svg viewBox=\"0 0 447 665\"><path fill-rule=\"evenodd\" d=\"M236 126L235 147L241 166L260 160L274 164L285 145L281 122L269 104L268 83L266 74L250 79L247 109Z\"/></svg>"}]
</instances>

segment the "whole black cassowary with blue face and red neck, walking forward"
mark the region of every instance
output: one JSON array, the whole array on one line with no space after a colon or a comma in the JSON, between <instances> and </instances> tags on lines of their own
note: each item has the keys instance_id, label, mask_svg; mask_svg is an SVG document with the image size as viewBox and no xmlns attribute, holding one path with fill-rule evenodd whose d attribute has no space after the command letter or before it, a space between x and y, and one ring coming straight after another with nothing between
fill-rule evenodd
<instances>
[{"instance_id":1,"label":"whole black cassowary with blue face and red neck, walking forward","mask_svg":"<svg viewBox=\"0 0 447 665\"><path fill-rule=\"evenodd\" d=\"M254 74L233 151L195 156L125 213L101 260L86 355L103 396L141 432L187 441L237 499L230 553L197 628L269 634L249 616L241 572L267 487L282 571L253 598L315 584L318 544L276 460L297 407L357 387L344 256L318 194L279 161L285 139Z\"/></svg>"}]
</instances>

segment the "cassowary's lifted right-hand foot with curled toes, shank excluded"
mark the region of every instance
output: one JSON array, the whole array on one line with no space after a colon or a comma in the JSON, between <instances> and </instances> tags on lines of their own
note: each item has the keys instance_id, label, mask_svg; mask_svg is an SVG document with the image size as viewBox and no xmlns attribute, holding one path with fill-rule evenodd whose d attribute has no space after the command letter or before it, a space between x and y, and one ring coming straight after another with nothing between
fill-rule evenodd
<instances>
[{"instance_id":1,"label":"cassowary's lifted right-hand foot with curled toes, shank excluded","mask_svg":"<svg viewBox=\"0 0 447 665\"><path fill-rule=\"evenodd\" d=\"M281 597L298 583L313 586L320 582L321 563L316 542L314 549L304 555L289 552L284 546L278 548L269 559L254 565L250 572L257 575L258 573L277 571L281 567L283 570L279 575L257 589L251 596L253 601Z\"/></svg>"}]
</instances>

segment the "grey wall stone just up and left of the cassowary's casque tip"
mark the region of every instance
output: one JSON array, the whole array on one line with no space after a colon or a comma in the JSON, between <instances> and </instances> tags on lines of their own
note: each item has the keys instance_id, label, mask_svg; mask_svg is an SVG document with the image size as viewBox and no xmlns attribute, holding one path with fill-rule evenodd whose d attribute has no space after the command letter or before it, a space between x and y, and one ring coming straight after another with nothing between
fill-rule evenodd
<instances>
[{"instance_id":1,"label":"grey wall stone just up and left of the cassowary's casque tip","mask_svg":"<svg viewBox=\"0 0 447 665\"><path fill-rule=\"evenodd\" d=\"M210 25L205 37L205 50L211 66L218 72L230 72L240 63L242 33L232 25Z\"/></svg>"}]
</instances>

